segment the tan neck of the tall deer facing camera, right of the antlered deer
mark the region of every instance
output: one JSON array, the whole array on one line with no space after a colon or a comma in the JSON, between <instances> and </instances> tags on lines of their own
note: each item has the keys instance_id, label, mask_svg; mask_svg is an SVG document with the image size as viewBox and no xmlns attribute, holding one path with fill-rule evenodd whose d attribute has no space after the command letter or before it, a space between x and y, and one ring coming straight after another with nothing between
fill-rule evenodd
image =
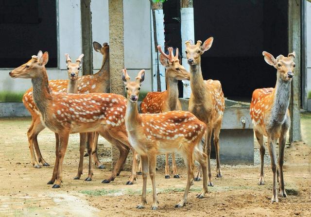
<instances>
[{"instance_id":1,"label":"tan neck of the tall deer facing camera, right of the antlered deer","mask_svg":"<svg viewBox=\"0 0 311 217\"><path fill-rule=\"evenodd\" d=\"M190 87L195 98L204 99L206 92L204 85L201 65L190 65Z\"/></svg>"}]
</instances>

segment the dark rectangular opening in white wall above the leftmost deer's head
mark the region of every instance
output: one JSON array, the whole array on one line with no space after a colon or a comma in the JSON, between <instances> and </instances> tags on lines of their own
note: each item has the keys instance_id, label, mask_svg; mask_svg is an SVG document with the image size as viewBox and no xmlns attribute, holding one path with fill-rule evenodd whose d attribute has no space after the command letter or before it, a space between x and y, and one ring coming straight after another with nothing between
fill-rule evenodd
<instances>
[{"instance_id":1,"label":"dark rectangular opening in white wall above the leftmost deer's head","mask_svg":"<svg viewBox=\"0 0 311 217\"><path fill-rule=\"evenodd\" d=\"M57 67L56 0L0 0L0 68L49 52L47 67Z\"/></svg>"}]
</instances>

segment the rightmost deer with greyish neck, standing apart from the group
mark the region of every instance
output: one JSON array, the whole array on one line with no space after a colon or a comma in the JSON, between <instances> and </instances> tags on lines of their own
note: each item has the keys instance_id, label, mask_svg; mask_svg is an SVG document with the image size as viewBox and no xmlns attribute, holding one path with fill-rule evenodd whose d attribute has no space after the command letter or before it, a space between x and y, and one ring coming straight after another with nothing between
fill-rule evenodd
<instances>
[{"instance_id":1,"label":"rightmost deer with greyish neck, standing apart from the group","mask_svg":"<svg viewBox=\"0 0 311 217\"><path fill-rule=\"evenodd\" d=\"M253 92L250 106L250 115L254 125L254 132L260 145L261 169L259 185L264 184L263 161L264 141L263 135L268 138L268 147L273 171L273 196L271 202L278 202L276 193L276 175L279 172L279 192L281 197L287 197L284 187L283 163L286 133L290 126L290 114L288 110L291 94L291 81L294 76L295 52L289 53L288 57L279 55L276 59L272 54L263 51L262 55L267 64L276 68L275 88L256 89ZM276 141L278 148L278 169L276 166Z\"/></svg>"}]
</instances>

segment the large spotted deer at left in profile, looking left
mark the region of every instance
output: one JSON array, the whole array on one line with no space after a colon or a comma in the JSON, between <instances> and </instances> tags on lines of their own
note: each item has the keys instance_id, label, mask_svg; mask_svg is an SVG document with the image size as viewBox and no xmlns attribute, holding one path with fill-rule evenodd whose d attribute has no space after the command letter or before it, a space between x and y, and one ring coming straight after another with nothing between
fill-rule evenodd
<instances>
[{"instance_id":1,"label":"large spotted deer at left in profile, looking left","mask_svg":"<svg viewBox=\"0 0 311 217\"><path fill-rule=\"evenodd\" d=\"M45 126L58 135L56 137L56 159L53 175L48 184L54 184L56 180L53 188L60 187L68 138L69 134L73 133L98 132L108 138L108 141L109 138L117 139L120 143L113 144L117 147L120 144L126 144L125 147L122 146L124 151L120 151L120 158L116 164L118 167L114 167L114 171L118 172L131 147L124 126L126 98L108 93L67 94L53 92L45 68L48 58L48 52L39 51L37 56L32 56L32 59L27 63L9 73L12 78L32 79L33 100L40 119ZM88 149L88 153L91 156L92 146ZM93 172L90 157L89 160L88 177L91 179ZM137 167L137 163L135 166ZM134 172L135 175L131 179L136 177L136 171Z\"/></svg>"}]
</instances>

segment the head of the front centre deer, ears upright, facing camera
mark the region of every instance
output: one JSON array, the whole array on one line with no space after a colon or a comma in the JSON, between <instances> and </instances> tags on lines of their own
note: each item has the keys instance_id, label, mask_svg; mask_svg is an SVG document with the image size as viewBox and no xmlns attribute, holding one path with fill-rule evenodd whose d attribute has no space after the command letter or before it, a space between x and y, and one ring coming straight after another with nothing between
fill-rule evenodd
<instances>
[{"instance_id":1,"label":"head of the front centre deer, ears upright, facing camera","mask_svg":"<svg viewBox=\"0 0 311 217\"><path fill-rule=\"evenodd\" d=\"M128 76L126 69L122 69L122 80L125 85L127 100L131 102L137 102L139 96L139 90L141 83L145 79L145 70L142 69L138 72L135 82L131 82L130 76Z\"/></svg>"}]
</instances>

